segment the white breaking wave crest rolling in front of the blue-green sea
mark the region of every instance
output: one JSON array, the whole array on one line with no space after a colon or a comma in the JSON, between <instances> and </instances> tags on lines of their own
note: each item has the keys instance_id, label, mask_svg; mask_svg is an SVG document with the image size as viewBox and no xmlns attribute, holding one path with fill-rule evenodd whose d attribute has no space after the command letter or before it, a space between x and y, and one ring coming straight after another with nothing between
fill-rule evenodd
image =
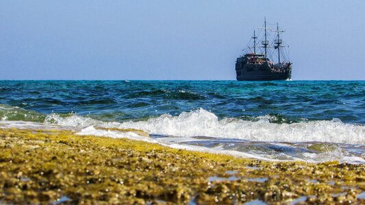
<instances>
[{"instance_id":1,"label":"white breaking wave crest rolling in front of the blue-green sea","mask_svg":"<svg viewBox=\"0 0 365 205\"><path fill-rule=\"evenodd\" d=\"M60 117L48 115L46 123L62 126L103 126L137 128L149 134L179 137L224 137L249 141L323 141L333 143L365 143L365 126L345 124L338 119L298 122L292 124L270 123L268 118L258 121L218 117L204 109L183 112L178 116L168 114L139 122L101 122L87 117L72 115Z\"/></svg>"}]
</instances>

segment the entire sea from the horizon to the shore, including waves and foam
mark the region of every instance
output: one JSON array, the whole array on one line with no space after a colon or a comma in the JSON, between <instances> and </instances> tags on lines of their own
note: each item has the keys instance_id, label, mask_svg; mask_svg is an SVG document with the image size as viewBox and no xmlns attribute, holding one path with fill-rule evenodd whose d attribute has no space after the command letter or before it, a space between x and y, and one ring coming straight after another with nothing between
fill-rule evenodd
<instances>
[{"instance_id":1,"label":"entire sea from the horizon to the shore, including waves and foam","mask_svg":"<svg viewBox=\"0 0 365 205\"><path fill-rule=\"evenodd\" d=\"M0 81L0 120L255 159L365 163L365 81Z\"/></svg>"}]
</instances>

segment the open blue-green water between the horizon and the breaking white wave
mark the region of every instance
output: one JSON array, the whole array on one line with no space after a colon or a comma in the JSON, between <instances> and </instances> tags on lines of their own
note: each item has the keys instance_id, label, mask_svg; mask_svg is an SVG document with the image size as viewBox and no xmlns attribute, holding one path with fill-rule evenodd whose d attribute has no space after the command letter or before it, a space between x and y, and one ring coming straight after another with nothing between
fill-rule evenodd
<instances>
[{"instance_id":1,"label":"open blue-green water between the horizon and the breaking white wave","mask_svg":"<svg viewBox=\"0 0 365 205\"><path fill-rule=\"evenodd\" d=\"M365 124L365 81L0 81L0 104L98 120L151 118L203 108L219 118ZM21 120L21 119L19 119Z\"/></svg>"}]
</instances>

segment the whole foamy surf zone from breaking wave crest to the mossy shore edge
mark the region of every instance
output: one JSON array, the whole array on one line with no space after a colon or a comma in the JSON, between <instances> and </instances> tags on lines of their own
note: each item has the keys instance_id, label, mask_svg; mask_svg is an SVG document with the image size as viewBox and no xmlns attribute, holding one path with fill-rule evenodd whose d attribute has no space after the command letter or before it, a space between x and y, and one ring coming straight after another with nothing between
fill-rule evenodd
<instances>
[{"instance_id":1,"label":"whole foamy surf zone from breaking wave crest to the mossy shore edge","mask_svg":"<svg viewBox=\"0 0 365 205\"><path fill-rule=\"evenodd\" d=\"M345 124L337 119L277 124L271 123L270 118L273 116L262 116L256 121L219 120L214 113L197 109L146 121L103 122L86 116L53 113L45 117L44 123L1 121L0 127L70 129L77 135L142 140L171 148L268 161L365 163L365 126ZM140 129L151 137L108 128Z\"/></svg>"}]
</instances>

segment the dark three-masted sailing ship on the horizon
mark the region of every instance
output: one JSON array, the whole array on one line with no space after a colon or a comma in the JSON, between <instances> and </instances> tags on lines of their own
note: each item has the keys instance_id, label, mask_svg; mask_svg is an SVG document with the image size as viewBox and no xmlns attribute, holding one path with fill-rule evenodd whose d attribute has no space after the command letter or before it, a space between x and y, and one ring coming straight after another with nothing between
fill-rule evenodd
<instances>
[{"instance_id":1,"label":"dark three-masted sailing ship on the horizon","mask_svg":"<svg viewBox=\"0 0 365 205\"><path fill-rule=\"evenodd\" d=\"M292 77L292 63L289 60L283 59L284 49L288 46L283 44L280 38L280 33L284 32L277 29L266 27L266 18L264 21L264 36L262 36L262 46L257 46L257 37L253 31L253 46L248 46L248 51L245 55L241 55L236 61L236 74L238 81L275 81L287 80ZM274 31L275 37L273 44L269 44L268 32ZM260 35L259 35L260 36ZM257 48L262 48L264 53L256 53ZM276 57L274 54L277 51L277 62L271 60L270 57ZM270 57L268 56L269 54ZM285 56L286 57L286 56Z\"/></svg>"}]
</instances>

